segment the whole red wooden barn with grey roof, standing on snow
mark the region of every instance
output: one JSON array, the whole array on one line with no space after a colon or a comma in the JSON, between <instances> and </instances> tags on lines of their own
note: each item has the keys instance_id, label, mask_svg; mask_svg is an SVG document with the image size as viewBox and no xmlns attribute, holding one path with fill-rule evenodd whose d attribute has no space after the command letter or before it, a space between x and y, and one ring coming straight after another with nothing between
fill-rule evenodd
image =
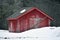
<instances>
[{"instance_id":1,"label":"whole red wooden barn with grey roof, standing on snow","mask_svg":"<svg viewBox=\"0 0 60 40\"><path fill-rule=\"evenodd\" d=\"M50 16L35 7L21 8L7 18L9 31L23 32L32 28L50 26Z\"/></svg>"}]
</instances>

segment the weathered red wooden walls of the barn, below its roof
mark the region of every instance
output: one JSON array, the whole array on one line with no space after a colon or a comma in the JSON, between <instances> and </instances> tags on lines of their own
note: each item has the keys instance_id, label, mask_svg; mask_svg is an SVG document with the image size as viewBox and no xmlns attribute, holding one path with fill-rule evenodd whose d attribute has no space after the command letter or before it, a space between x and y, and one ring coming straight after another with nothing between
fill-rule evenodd
<instances>
[{"instance_id":1,"label":"weathered red wooden walls of the barn, below its roof","mask_svg":"<svg viewBox=\"0 0 60 40\"><path fill-rule=\"evenodd\" d=\"M46 16L44 14L37 11L36 9L32 10L31 12L26 13L25 15L19 17L17 20L8 21L9 22L9 30L13 31L13 32L23 32L23 31L29 30L31 28L49 26L50 19L47 17L42 22L39 22L40 21L39 19L43 19L45 17ZM39 20L38 25L36 25L37 19Z\"/></svg>"}]
</instances>

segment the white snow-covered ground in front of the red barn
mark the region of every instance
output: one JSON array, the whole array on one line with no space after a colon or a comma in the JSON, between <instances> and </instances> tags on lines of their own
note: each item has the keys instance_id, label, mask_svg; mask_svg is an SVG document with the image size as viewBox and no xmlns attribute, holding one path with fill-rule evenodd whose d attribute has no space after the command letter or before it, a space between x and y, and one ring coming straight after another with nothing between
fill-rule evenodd
<instances>
[{"instance_id":1,"label":"white snow-covered ground in front of the red barn","mask_svg":"<svg viewBox=\"0 0 60 40\"><path fill-rule=\"evenodd\" d=\"M60 40L60 27L37 28L22 33L0 30L0 40Z\"/></svg>"}]
</instances>

